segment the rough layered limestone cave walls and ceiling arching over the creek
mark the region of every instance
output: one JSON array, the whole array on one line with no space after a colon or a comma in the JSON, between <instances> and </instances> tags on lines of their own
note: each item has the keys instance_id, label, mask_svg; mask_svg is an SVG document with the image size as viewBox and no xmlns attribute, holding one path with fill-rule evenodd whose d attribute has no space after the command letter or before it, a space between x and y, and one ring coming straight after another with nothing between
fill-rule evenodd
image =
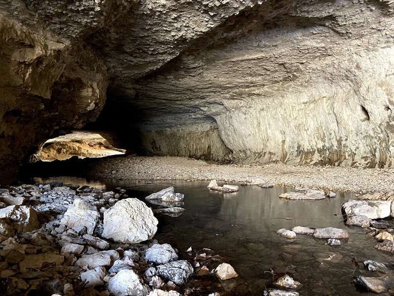
<instances>
[{"instance_id":1,"label":"rough layered limestone cave walls and ceiling arching over the creek","mask_svg":"<svg viewBox=\"0 0 394 296\"><path fill-rule=\"evenodd\" d=\"M45 141L391 167L392 0L0 0L0 180ZM104 137L105 138L105 137Z\"/></svg>"}]
</instances>

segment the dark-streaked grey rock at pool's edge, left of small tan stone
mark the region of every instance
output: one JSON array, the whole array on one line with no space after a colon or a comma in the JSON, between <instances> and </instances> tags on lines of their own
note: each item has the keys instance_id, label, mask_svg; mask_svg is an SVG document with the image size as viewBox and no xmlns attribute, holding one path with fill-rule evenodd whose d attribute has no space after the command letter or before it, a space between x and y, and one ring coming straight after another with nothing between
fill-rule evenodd
<instances>
[{"instance_id":1,"label":"dark-streaked grey rock at pool's edge, left of small tan stone","mask_svg":"<svg viewBox=\"0 0 394 296\"><path fill-rule=\"evenodd\" d=\"M186 260L171 261L157 266L157 274L161 278L178 286L185 284L192 273L193 267Z\"/></svg>"}]
</instances>

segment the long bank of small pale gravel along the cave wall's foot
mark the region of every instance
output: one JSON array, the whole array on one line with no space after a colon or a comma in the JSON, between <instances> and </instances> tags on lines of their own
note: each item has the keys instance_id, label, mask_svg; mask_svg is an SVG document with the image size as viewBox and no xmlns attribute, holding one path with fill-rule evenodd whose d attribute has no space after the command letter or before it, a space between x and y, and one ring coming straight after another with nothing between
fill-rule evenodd
<instances>
[{"instance_id":1,"label":"long bank of small pale gravel along the cave wall's foot","mask_svg":"<svg viewBox=\"0 0 394 296\"><path fill-rule=\"evenodd\" d=\"M258 181L344 192L394 189L394 169L292 166L280 163L218 165L185 157L126 156L101 159L92 164L89 171L90 177L112 180Z\"/></svg>"}]
</instances>

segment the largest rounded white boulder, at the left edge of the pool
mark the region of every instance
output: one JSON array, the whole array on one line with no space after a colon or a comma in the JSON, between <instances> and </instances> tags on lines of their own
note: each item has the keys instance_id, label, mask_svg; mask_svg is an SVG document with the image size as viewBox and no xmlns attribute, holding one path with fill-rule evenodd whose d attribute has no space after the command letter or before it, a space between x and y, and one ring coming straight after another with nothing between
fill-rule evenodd
<instances>
[{"instance_id":1,"label":"largest rounded white boulder, at the left edge of the pool","mask_svg":"<svg viewBox=\"0 0 394 296\"><path fill-rule=\"evenodd\" d=\"M101 236L123 243L139 243L151 239L157 231L158 220L142 201L127 198L104 212Z\"/></svg>"}]
</instances>

